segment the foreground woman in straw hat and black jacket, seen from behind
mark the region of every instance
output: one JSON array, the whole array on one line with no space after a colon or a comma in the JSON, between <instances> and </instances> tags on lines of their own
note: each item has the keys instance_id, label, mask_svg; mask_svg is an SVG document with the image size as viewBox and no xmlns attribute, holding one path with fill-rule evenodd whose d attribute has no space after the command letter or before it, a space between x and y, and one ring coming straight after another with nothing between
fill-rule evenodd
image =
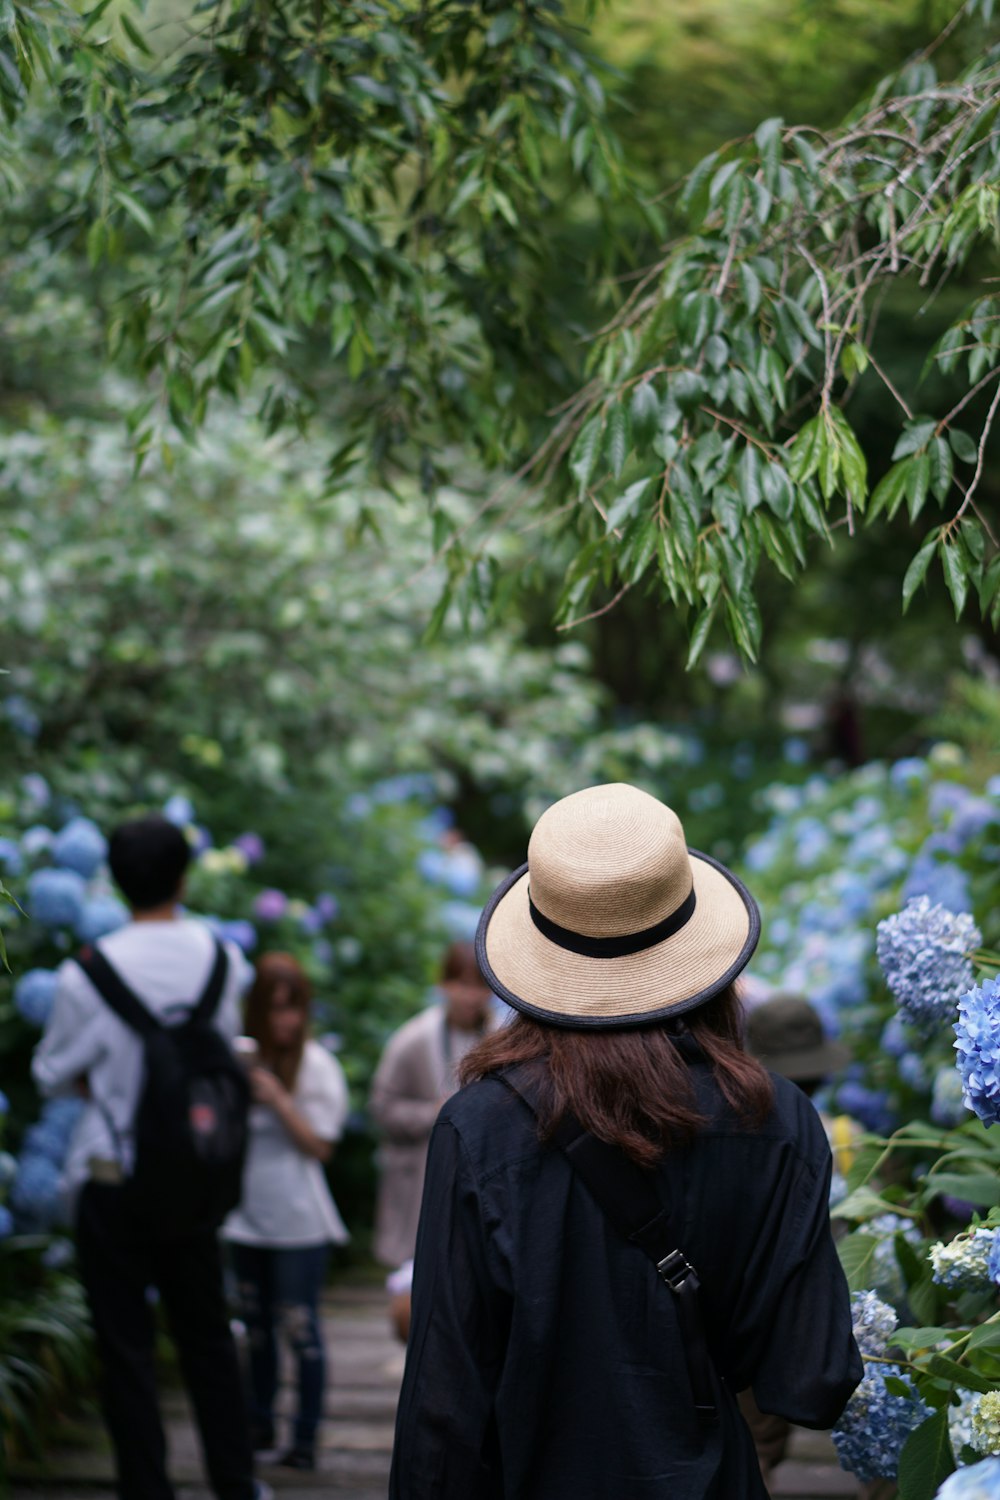
<instances>
[{"instance_id":1,"label":"foreground woman in straw hat and black jacket, seen from behind","mask_svg":"<svg viewBox=\"0 0 1000 1500\"><path fill-rule=\"evenodd\" d=\"M636 788L538 820L477 936L519 1014L430 1142L390 1500L766 1500L735 1392L840 1416L829 1148L741 1041L759 930Z\"/></svg>"}]
</instances>

